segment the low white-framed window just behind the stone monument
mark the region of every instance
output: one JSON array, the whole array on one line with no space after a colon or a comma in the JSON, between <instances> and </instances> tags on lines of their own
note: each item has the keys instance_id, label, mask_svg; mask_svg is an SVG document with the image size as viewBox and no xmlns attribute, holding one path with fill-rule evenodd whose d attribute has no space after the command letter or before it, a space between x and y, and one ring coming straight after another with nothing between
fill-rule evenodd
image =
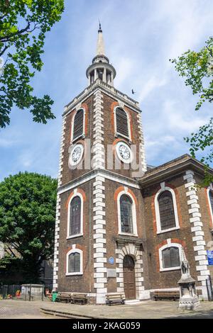
<instances>
[{"instance_id":1,"label":"low white-framed window just behind the stone monument","mask_svg":"<svg viewBox=\"0 0 213 333\"><path fill-rule=\"evenodd\" d=\"M160 271L180 269L180 250L182 246L176 243L166 244L159 249Z\"/></svg>"}]
</instances>

